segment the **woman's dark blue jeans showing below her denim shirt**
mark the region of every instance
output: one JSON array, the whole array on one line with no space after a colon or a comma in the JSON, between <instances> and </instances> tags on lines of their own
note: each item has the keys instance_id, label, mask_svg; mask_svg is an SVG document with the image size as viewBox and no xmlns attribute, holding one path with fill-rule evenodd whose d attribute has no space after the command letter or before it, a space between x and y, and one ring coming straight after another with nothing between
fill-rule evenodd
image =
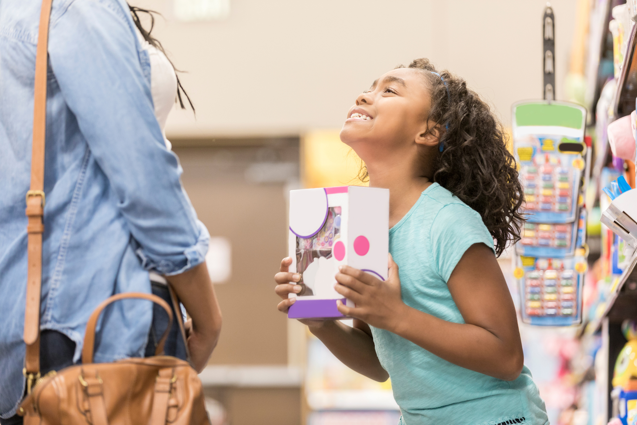
<instances>
[{"instance_id":1,"label":"woman's dark blue jeans showing below her denim shirt","mask_svg":"<svg viewBox=\"0 0 637 425\"><path fill-rule=\"evenodd\" d=\"M152 291L154 295L164 299L173 310L175 317L175 308L170 299L168 286L152 283ZM181 314L182 312L177 312ZM168 315L164 309L153 304L153 322L148 333L148 344L146 346L146 357L154 356L157 342L161 338L164 329L168 326ZM73 365L73 353L75 352L75 342L71 341L68 336L58 331L41 331L40 332L40 373L44 376L52 370L62 370ZM186 359L186 346L182 338L179 325L176 319L173 319L173 326L168 333L168 338L164 344L164 354L166 356L178 357L182 360ZM78 362L80 363L80 362ZM78 364L76 363L76 364ZM0 425L22 425L22 416L12 416L9 419L0 419Z\"/></svg>"}]
</instances>

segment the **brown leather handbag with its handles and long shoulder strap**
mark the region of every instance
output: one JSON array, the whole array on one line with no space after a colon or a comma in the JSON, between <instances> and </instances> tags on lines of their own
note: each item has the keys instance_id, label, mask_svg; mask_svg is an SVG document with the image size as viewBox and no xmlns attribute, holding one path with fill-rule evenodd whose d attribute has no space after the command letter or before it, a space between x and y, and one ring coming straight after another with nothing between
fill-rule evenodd
<instances>
[{"instance_id":1,"label":"brown leather handbag with its handles and long shoulder strap","mask_svg":"<svg viewBox=\"0 0 637 425\"><path fill-rule=\"evenodd\" d=\"M31 161L31 190L27 192L28 271L24 316L27 397L18 414L25 425L204 425L210 424L201 381L187 361L159 356L173 314L163 299L129 292L111 296L90 315L84 335L82 364L45 377L39 373L39 301L42 280L42 222L45 204L44 152L47 124L47 43L52 0L43 0L36 52L35 105ZM173 303L176 298L171 294ZM95 328L104 308L118 299L141 298L161 305L169 324L154 357L93 363ZM178 305L178 303L176 303ZM178 306L175 309L180 312ZM183 333L183 323L176 314Z\"/></svg>"}]
</instances>

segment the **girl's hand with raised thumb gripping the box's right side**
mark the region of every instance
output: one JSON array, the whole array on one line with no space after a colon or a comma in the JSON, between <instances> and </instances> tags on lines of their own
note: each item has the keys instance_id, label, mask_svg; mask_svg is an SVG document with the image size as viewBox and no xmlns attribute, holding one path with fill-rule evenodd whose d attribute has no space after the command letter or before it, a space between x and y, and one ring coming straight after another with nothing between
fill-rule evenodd
<instances>
[{"instance_id":1,"label":"girl's hand with raised thumb gripping the box's right side","mask_svg":"<svg viewBox=\"0 0 637 425\"><path fill-rule=\"evenodd\" d=\"M355 307L348 307L336 301L338 311L360 319L375 328L394 331L407 307L403 303L398 277L398 265L389 254L389 273L383 281L375 276L350 266L340 266L336 273L336 292L354 301Z\"/></svg>"}]
</instances>

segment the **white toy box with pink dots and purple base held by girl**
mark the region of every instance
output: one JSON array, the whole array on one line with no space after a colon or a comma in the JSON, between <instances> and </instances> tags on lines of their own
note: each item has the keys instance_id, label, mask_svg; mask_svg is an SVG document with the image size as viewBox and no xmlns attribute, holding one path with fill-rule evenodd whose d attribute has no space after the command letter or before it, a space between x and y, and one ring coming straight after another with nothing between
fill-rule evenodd
<instances>
[{"instance_id":1,"label":"white toy box with pink dots and purple base held by girl","mask_svg":"<svg viewBox=\"0 0 637 425\"><path fill-rule=\"evenodd\" d=\"M290 271L303 288L288 312L290 319L343 319L334 290L338 266L347 264L387 279L389 189L363 186L290 191Z\"/></svg>"}]
</instances>

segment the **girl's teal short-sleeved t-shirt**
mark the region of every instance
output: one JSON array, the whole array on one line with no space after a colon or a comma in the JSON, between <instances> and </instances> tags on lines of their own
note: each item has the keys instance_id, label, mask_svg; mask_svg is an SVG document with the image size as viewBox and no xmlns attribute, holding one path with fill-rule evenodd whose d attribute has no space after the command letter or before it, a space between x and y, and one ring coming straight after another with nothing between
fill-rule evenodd
<instances>
[{"instance_id":1,"label":"girl's teal short-sleeved t-shirt","mask_svg":"<svg viewBox=\"0 0 637 425\"><path fill-rule=\"evenodd\" d=\"M493 249L480 215L439 184L427 187L389 231L389 251L399 266L404 303L445 321L464 323L447 280L462 254L480 242ZM519 378L508 382L456 366L389 331L371 331L405 425L548 424L544 402L526 366Z\"/></svg>"}]
</instances>

